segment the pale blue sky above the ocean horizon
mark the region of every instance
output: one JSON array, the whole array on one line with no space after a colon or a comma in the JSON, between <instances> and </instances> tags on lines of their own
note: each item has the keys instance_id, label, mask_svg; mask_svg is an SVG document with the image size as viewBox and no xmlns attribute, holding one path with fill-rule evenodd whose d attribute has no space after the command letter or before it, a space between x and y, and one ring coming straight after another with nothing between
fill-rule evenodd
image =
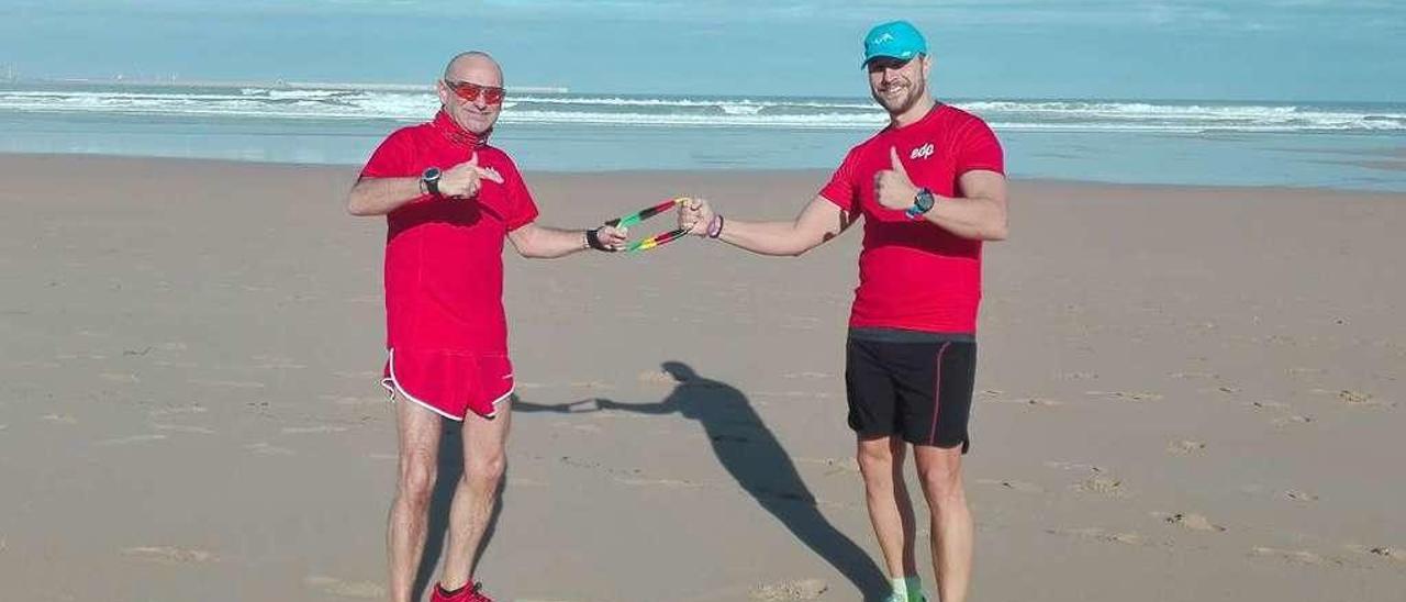
<instances>
[{"instance_id":1,"label":"pale blue sky above the ocean horizon","mask_svg":"<svg viewBox=\"0 0 1406 602\"><path fill-rule=\"evenodd\" d=\"M509 84L863 96L889 18L928 34L938 96L1406 100L1402 0L6 0L0 65L429 82L482 48Z\"/></svg>"}]
</instances>

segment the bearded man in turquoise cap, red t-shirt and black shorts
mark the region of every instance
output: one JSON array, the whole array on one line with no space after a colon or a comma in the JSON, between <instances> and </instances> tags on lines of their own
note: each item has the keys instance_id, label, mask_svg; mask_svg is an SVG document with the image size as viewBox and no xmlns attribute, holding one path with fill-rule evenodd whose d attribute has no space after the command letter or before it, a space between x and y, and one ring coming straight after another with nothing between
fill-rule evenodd
<instances>
[{"instance_id":1,"label":"bearded man in turquoise cap, red t-shirt and black shorts","mask_svg":"<svg viewBox=\"0 0 1406 602\"><path fill-rule=\"evenodd\" d=\"M932 60L911 24L870 30L863 65L889 127L849 150L794 222L724 219L707 201L686 207L679 222L755 253L796 256L863 218L845 387L869 518L894 581L889 601L922 601L901 473L911 444L932 511L941 599L962 602L972 574L962 454L970 444L981 242L1007 233L1005 167L986 122L929 96Z\"/></svg>"}]
</instances>

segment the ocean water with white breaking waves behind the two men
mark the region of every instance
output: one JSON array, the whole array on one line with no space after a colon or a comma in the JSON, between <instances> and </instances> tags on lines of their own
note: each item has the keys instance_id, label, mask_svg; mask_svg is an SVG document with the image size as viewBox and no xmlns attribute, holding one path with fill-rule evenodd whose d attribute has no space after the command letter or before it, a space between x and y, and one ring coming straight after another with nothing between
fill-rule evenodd
<instances>
[{"instance_id":1,"label":"ocean water with white breaking waves behind the two men","mask_svg":"<svg viewBox=\"0 0 1406 602\"><path fill-rule=\"evenodd\" d=\"M943 98L1012 177L1406 191L1406 104ZM0 152L359 165L439 101L398 84L0 83ZM524 170L832 169L869 98L510 90L494 142Z\"/></svg>"}]
</instances>

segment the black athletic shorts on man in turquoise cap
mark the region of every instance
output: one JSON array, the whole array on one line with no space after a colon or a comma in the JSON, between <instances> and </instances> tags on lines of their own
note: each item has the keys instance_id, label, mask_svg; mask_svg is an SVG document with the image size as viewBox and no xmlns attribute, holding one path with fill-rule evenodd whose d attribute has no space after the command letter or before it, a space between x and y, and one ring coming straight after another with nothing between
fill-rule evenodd
<instances>
[{"instance_id":1,"label":"black athletic shorts on man in turquoise cap","mask_svg":"<svg viewBox=\"0 0 1406 602\"><path fill-rule=\"evenodd\" d=\"M851 329L845 349L849 428L862 439L898 435L920 446L972 446L967 418L976 339L890 329Z\"/></svg>"}]
</instances>

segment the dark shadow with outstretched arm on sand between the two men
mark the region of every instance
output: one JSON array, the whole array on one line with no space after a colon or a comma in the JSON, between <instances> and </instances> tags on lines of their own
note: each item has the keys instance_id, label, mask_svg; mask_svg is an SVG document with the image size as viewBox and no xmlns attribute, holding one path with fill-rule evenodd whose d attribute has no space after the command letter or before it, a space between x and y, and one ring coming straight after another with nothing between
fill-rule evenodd
<instances>
[{"instance_id":1,"label":"dark shadow with outstretched arm on sand between the two men","mask_svg":"<svg viewBox=\"0 0 1406 602\"><path fill-rule=\"evenodd\" d=\"M665 361L665 373L678 383L673 391L655 404L620 404L612 399L586 399L575 404L513 404L513 412L589 411L636 412L651 415L679 414L697 421L707 433L718 463L737 480L756 504L770 512L801 543L848 578L865 599L880 599L889 581L873 558L853 540L837 530L815 505L796 464L752 408L747 395L727 383L703 378L681 361Z\"/></svg>"}]
</instances>

